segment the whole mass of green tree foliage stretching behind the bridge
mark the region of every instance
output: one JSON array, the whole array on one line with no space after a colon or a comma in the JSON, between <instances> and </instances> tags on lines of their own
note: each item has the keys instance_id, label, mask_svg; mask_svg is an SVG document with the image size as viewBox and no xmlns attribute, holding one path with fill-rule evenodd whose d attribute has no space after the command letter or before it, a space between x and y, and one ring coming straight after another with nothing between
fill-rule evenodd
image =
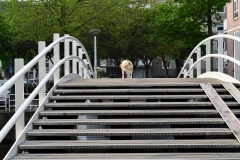
<instances>
[{"instance_id":1,"label":"whole mass of green tree foliage stretching behind the bridge","mask_svg":"<svg viewBox=\"0 0 240 160\"><path fill-rule=\"evenodd\" d=\"M184 60L202 39L214 34L210 28L221 22L216 11L229 1L8 0L1 6L0 59L5 68L14 58L27 63L38 53L37 42L52 42L53 33L78 38L93 59L89 31L99 28L98 58L113 59L116 66L122 59L134 66L141 60L146 68L157 57ZM151 9L144 8L146 4Z\"/></svg>"}]
</instances>

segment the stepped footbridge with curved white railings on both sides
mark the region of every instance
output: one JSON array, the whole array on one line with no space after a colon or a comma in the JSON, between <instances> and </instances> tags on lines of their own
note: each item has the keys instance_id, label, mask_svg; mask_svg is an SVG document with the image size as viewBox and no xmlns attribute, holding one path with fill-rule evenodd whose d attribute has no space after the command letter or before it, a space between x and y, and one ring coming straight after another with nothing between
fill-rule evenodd
<instances>
[{"instance_id":1,"label":"stepped footbridge with curved white railings on both sides","mask_svg":"<svg viewBox=\"0 0 240 160\"><path fill-rule=\"evenodd\" d=\"M239 80L221 70L187 78L194 66L209 57L240 62L210 54L185 70L192 54L208 40L240 42L224 36L210 37L193 50L179 74L184 78L92 79L94 72L79 40L55 34L49 46L39 42L39 55L25 66L16 60L18 71L0 88L0 94L14 84L20 90L16 112L0 132L2 141L16 127L16 141L4 159L240 159ZM65 43L61 60L59 43ZM46 74L44 56L52 49L55 66ZM40 83L23 100L23 75L36 63ZM62 64L65 75L60 77ZM54 86L46 95L51 76ZM37 94L40 105L25 126L24 111Z\"/></svg>"}]
</instances>

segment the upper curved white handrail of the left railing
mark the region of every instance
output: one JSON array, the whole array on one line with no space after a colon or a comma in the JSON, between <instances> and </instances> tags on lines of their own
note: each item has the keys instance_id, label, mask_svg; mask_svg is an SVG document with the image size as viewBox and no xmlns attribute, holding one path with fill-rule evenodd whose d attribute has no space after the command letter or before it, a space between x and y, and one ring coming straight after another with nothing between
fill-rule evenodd
<instances>
[{"instance_id":1,"label":"upper curved white handrail of the left railing","mask_svg":"<svg viewBox=\"0 0 240 160\"><path fill-rule=\"evenodd\" d=\"M0 95L2 95L5 91L7 91L10 87L14 85L14 83L23 75L25 74L30 68L32 68L44 55L46 55L53 47L63 41L64 39L72 39L77 41L80 46L86 51L85 47L82 45L82 43L75 37L65 35L63 37L58 38L54 42L52 42L50 45L48 45L46 48L44 48L36 57L34 57L28 64L26 64L20 71L18 71L11 79L9 79L4 85L0 88ZM86 54L88 61L90 61L88 54ZM93 68L90 63L90 70L93 73Z\"/></svg>"}]
</instances>

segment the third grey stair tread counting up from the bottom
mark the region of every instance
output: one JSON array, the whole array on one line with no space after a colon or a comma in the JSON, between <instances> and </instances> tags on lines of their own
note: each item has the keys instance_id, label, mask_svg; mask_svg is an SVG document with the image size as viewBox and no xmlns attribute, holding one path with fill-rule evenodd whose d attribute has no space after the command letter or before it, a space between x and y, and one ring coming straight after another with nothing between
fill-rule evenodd
<instances>
[{"instance_id":1,"label":"third grey stair tread counting up from the bottom","mask_svg":"<svg viewBox=\"0 0 240 160\"><path fill-rule=\"evenodd\" d=\"M29 136L63 136L63 135L231 135L228 128L145 128L145 129L34 129L27 133Z\"/></svg>"}]
</instances>

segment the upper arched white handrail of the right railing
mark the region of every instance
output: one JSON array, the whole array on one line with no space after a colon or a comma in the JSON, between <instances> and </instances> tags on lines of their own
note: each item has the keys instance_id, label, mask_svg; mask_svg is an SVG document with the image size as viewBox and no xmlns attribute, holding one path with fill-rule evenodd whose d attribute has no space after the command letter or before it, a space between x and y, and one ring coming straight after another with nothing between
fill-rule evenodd
<instances>
[{"instance_id":1,"label":"upper arched white handrail of the right railing","mask_svg":"<svg viewBox=\"0 0 240 160\"><path fill-rule=\"evenodd\" d=\"M220 34L220 35L214 35L214 36L211 36L211 37L208 37L206 39L204 39L203 41L201 41L193 50L192 52L190 53L190 55L188 56L185 64L183 65L181 71L179 72L177 78L180 77L181 73L183 72L183 70L185 69L189 59L192 57L193 53L195 52L195 50L200 47L202 44L204 44L206 41L208 40L211 40L211 39L215 39L215 38L229 38L229 39L232 39L232 40L235 40L235 41L238 41L240 42L240 38L239 37L236 37L236 36L232 36L232 35L228 35L228 34Z\"/></svg>"}]
</instances>

